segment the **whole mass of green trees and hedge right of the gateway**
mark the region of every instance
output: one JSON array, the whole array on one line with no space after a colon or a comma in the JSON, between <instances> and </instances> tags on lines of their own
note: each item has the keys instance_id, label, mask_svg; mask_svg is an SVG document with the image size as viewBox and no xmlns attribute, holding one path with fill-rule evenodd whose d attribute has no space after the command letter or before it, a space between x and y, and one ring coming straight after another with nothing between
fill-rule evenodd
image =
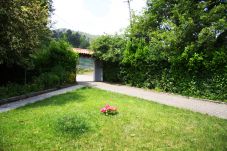
<instances>
[{"instance_id":1,"label":"whole mass of green trees and hedge right of the gateway","mask_svg":"<svg viewBox=\"0 0 227 151\"><path fill-rule=\"evenodd\" d=\"M148 0L143 14L133 17L120 53L112 53L111 36L95 41L104 80L226 100L226 11L224 1Z\"/></svg>"}]
</instances>

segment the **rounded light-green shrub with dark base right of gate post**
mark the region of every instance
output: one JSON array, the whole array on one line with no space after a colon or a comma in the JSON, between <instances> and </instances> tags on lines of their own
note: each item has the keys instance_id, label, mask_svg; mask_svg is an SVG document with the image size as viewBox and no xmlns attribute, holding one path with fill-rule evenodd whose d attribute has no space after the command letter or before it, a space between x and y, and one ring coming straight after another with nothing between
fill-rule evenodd
<instances>
[{"instance_id":1,"label":"rounded light-green shrub with dark base right of gate post","mask_svg":"<svg viewBox=\"0 0 227 151\"><path fill-rule=\"evenodd\" d=\"M127 40L124 37L114 35L102 35L91 43L94 57L103 61L103 80L108 82L120 82L120 62Z\"/></svg>"}]
</instances>

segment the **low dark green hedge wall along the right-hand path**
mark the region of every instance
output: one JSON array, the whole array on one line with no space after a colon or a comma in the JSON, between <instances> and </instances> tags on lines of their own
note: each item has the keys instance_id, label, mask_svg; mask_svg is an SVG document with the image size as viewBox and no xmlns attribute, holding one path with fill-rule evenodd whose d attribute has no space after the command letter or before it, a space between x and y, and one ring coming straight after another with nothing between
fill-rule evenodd
<instances>
[{"instance_id":1,"label":"low dark green hedge wall along the right-hand path","mask_svg":"<svg viewBox=\"0 0 227 151\"><path fill-rule=\"evenodd\" d=\"M105 82L123 83L185 96L226 101L227 74L223 72L187 72L163 62L141 62L137 65L103 63Z\"/></svg>"}]
</instances>

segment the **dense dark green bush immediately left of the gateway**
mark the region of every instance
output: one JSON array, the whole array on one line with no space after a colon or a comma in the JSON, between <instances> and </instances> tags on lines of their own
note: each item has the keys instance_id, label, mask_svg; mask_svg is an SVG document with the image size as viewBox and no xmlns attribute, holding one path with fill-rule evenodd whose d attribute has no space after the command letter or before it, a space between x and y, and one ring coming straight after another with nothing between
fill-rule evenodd
<instances>
[{"instance_id":1,"label":"dense dark green bush immediately left of the gateway","mask_svg":"<svg viewBox=\"0 0 227 151\"><path fill-rule=\"evenodd\" d=\"M75 82L78 54L64 40L52 41L47 49L39 51L33 58L39 75L36 82L45 88Z\"/></svg>"}]
</instances>

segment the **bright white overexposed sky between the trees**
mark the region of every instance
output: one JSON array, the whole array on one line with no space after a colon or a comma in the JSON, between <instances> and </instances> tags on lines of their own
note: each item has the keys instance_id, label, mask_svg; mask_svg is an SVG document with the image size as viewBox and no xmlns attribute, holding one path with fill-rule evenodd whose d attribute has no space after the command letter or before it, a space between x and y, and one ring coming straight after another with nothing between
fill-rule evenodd
<instances>
[{"instance_id":1,"label":"bright white overexposed sky between the trees","mask_svg":"<svg viewBox=\"0 0 227 151\"><path fill-rule=\"evenodd\" d=\"M115 34L129 25L126 0L53 0L53 28L68 28L93 35ZM132 0L131 8L141 12L146 0Z\"/></svg>"}]
</instances>

